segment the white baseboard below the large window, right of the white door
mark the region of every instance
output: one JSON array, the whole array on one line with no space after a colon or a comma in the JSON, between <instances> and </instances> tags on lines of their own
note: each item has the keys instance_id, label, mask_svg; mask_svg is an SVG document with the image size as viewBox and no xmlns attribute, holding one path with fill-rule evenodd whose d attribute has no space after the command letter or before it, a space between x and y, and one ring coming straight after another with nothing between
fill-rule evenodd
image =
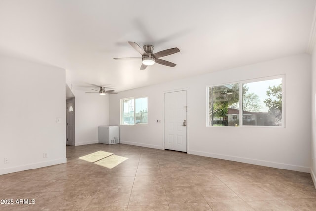
<instances>
[{"instance_id":1,"label":"white baseboard below the large window, right of the white door","mask_svg":"<svg viewBox=\"0 0 316 211\"><path fill-rule=\"evenodd\" d=\"M296 166L296 165L291 165L291 164L283 164L283 163L277 163L277 162L271 162L271 161L201 152L201 151L195 151L195 150L189 150L187 153L193 154L193 155L211 157L211 158L219 158L219 159L224 159L224 160L229 160L229 161L237 161L237 162L247 163L247 164L260 165L260 166L265 166L265 167L273 167L277 169L286 169L286 170L294 170L294 171L310 173L310 167L304 167L304 166Z\"/></svg>"}]
</instances>

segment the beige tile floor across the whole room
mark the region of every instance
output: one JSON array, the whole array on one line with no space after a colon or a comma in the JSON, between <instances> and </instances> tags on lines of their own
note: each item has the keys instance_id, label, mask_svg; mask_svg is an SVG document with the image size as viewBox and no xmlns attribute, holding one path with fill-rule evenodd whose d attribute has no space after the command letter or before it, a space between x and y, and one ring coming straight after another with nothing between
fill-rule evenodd
<instances>
[{"instance_id":1,"label":"beige tile floor across the whole room","mask_svg":"<svg viewBox=\"0 0 316 211\"><path fill-rule=\"evenodd\" d=\"M78 159L99 150L113 169ZM0 176L1 211L315 211L310 174L124 144L67 146L67 163Z\"/></svg>"}]
</instances>

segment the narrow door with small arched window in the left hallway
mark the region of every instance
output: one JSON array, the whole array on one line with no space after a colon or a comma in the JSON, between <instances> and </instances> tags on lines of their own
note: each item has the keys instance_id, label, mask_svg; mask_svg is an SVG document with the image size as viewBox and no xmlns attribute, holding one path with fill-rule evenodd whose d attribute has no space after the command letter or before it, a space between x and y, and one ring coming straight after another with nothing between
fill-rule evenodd
<instances>
[{"instance_id":1,"label":"narrow door with small arched window in the left hallway","mask_svg":"<svg viewBox=\"0 0 316 211\"><path fill-rule=\"evenodd\" d=\"M75 110L72 100L67 101L66 144L75 145Z\"/></svg>"}]
</instances>

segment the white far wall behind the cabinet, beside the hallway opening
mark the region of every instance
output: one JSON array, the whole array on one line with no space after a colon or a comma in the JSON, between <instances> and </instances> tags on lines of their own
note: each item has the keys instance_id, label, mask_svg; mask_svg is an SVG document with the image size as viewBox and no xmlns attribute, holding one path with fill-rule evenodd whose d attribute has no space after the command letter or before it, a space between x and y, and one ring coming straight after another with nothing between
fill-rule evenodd
<instances>
[{"instance_id":1,"label":"white far wall behind the cabinet, beside the hallway opening","mask_svg":"<svg viewBox=\"0 0 316 211\"><path fill-rule=\"evenodd\" d=\"M109 125L109 95L75 90L75 146L98 143L98 126Z\"/></svg>"}]
</instances>

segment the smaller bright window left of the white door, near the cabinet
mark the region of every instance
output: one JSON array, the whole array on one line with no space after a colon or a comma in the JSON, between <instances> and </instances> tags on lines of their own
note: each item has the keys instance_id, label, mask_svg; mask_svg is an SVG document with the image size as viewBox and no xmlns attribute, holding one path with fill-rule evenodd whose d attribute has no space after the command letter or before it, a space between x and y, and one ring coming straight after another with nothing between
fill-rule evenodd
<instances>
[{"instance_id":1,"label":"smaller bright window left of the white door, near the cabinet","mask_svg":"<svg viewBox=\"0 0 316 211\"><path fill-rule=\"evenodd\" d=\"M121 99L121 125L148 123L147 97Z\"/></svg>"}]
</instances>

